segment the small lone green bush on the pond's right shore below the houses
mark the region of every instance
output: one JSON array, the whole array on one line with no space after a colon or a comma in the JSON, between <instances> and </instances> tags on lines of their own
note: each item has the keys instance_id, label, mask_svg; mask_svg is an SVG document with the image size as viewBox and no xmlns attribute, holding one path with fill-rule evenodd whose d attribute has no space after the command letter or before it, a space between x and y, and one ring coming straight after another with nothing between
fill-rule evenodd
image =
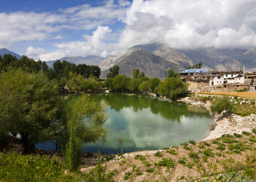
<instances>
[{"instance_id":1,"label":"small lone green bush on the pond's right shore below the houses","mask_svg":"<svg viewBox=\"0 0 256 182\"><path fill-rule=\"evenodd\" d=\"M224 96L223 98L216 98L214 101L212 101L211 112L213 113L213 116L215 113L219 114L224 110L232 110L232 105L230 104L228 96Z\"/></svg>"}]
</instances>

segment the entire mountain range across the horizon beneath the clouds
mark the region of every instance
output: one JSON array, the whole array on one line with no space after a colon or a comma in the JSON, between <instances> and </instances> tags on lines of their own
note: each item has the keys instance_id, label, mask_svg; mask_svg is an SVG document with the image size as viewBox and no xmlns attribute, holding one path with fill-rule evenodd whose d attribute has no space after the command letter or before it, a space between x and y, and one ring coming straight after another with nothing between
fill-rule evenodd
<instances>
[{"instance_id":1,"label":"entire mountain range across the horizon beneath the clouds","mask_svg":"<svg viewBox=\"0 0 256 182\"><path fill-rule=\"evenodd\" d=\"M0 55L10 53L7 49L0 49ZM230 71L244 69L256 71L256 50L243 49L172 49L167 44L141 44L130 47L123 52L103 59L98 56L72 56L61 58L74 64L97 65L101 68L101 78L109 72L110 67L119 66L119 74L131 76L134 69L139 69L146 76L166 78L167 71L173 68L176 72L188 69L198 62L202 62L202 69ZM46 61L52 67L54 61Z\"/></svg>"}]
</instances>

